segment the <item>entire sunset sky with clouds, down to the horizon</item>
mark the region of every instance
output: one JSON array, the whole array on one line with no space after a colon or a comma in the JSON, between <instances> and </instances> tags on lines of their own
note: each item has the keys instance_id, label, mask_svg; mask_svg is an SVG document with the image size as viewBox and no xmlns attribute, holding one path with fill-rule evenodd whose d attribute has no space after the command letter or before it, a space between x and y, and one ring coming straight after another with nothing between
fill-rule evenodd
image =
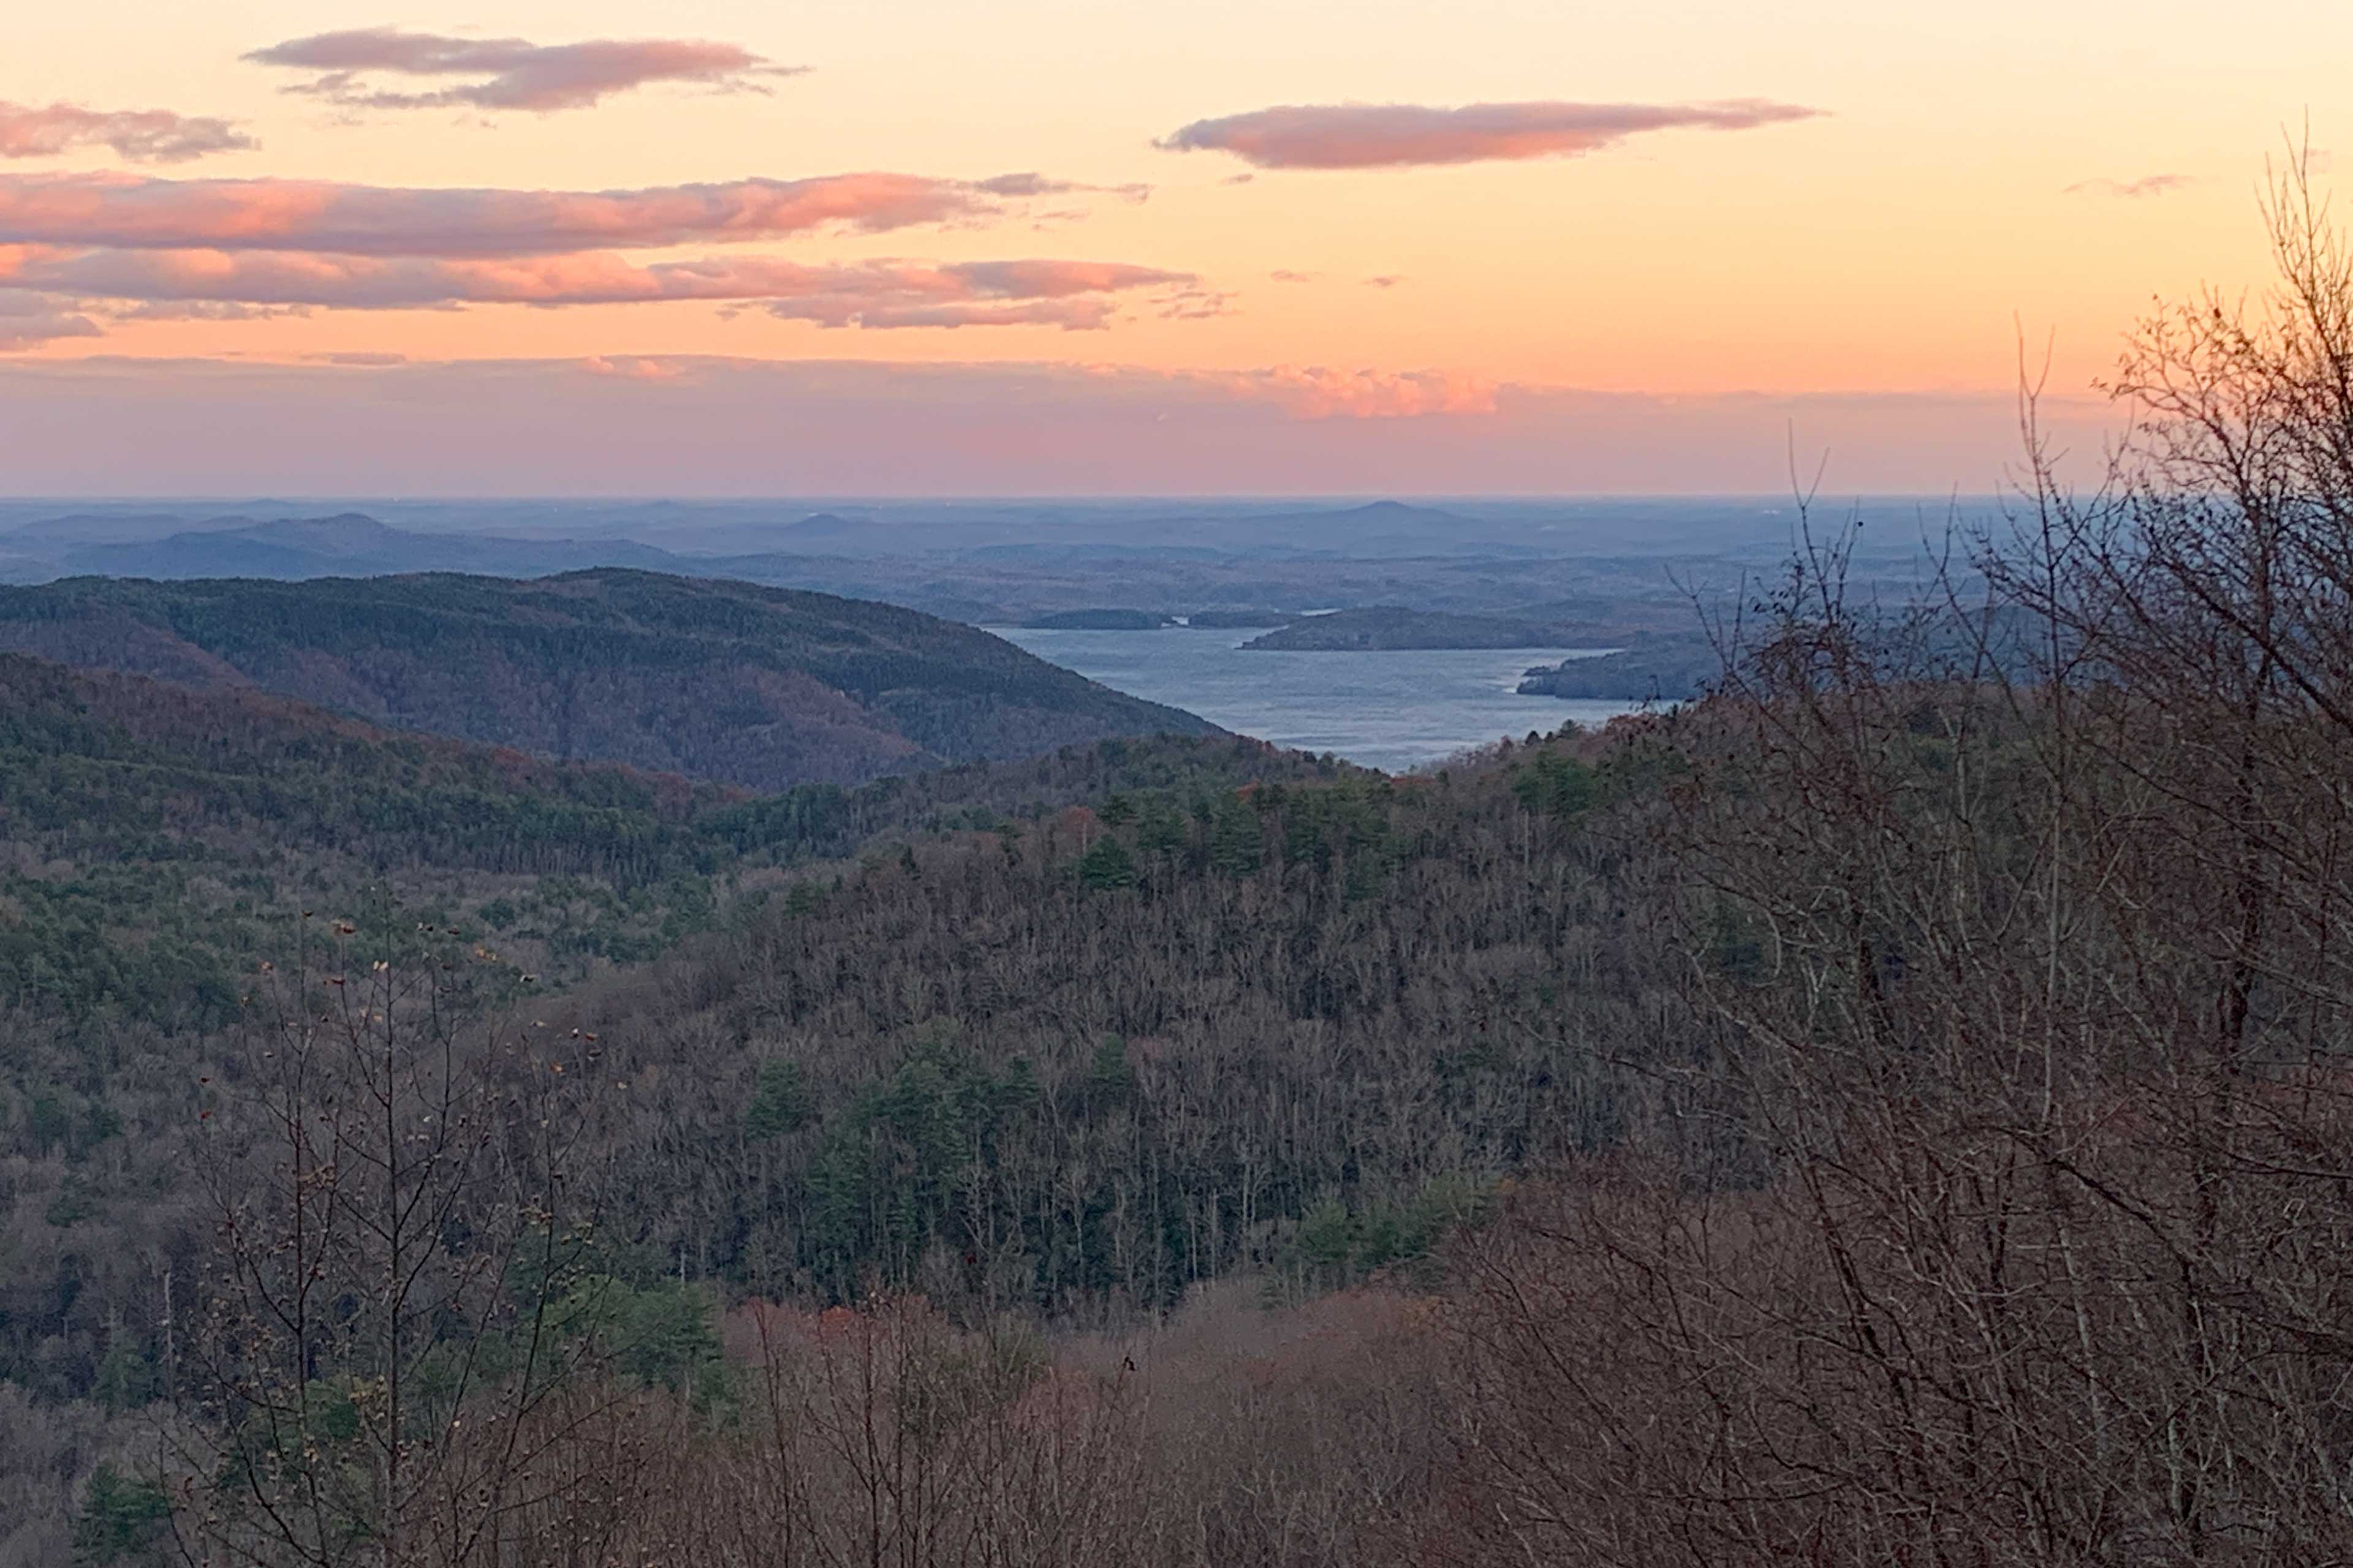
<instances>
[{"instance_id":1,"label":"entire sunset sky with clouds, down to the horizon","mask_svg":"<svg viewBox=\"0 0 2353 1568\"><path fill-rule=\"evenodd\" d=\"M82 0L7 494L1988 491L2264 277L2353 7ZM2327 174L2322 176L2327 179Z\"/></svg>"}]
</instances>

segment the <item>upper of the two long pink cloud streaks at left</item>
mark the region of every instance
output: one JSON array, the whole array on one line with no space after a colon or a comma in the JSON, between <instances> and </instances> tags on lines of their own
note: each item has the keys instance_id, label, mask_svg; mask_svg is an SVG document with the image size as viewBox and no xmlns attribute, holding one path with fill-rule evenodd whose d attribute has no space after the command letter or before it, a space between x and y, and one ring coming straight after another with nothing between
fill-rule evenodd
<instances>
[{"instance_id":1,"label":"upper of the two long pink cloud streaks at left","mask_svg":"<svg viewBox=\"0 0 2353 1568\"><path fill-rule=\"evenodd\" d=\"M534 256L588 247L861 233L1002 212L984 183L920 174L739 179L647 190L435 190L296 179L0 174L0 244Z\"/></svg>"}]
</instances>

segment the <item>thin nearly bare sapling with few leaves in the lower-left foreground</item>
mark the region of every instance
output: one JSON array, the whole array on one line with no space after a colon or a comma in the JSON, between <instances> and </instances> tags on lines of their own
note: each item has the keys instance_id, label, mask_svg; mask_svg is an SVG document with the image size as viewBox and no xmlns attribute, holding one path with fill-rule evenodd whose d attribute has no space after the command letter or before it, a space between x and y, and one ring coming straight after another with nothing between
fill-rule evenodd
<instances>
[{"instance_id":1,"label":"thin nearly bare sapling with few leaves in the lower-left foreground","mask_svg":"<svg viewBox=\"0 0 2353 1568\"><path fill-rule=\"evenodd\" d=\"M579 1157L602 1048L504 1018L487 950L355 936L259 976L205 1093L188 1523L238 1561L496 1563L605 1352Z\"/></svg>"}]
</instances>

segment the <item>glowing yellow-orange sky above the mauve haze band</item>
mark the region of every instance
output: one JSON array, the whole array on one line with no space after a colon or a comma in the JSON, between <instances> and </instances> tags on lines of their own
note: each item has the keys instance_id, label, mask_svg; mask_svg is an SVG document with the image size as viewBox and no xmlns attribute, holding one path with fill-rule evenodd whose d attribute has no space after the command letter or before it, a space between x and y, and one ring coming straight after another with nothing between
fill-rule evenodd
<instances>
[{"instance_id":1,"label":"glowing yellow-orange sky above the mauve haze band","mask_svg":"<svg viewBox=\"0 0 2353 1568\"><path fill-rule=\"evenodd\" d=\"M1494 388L2000 400L2021 324L2054 339L2054 386L2075 390L2151 296L2259 280L2266 155L2306 113L2327 148L2353 66L2353 7L2308 0L2247 5L2228 26L2181 0L572 0L402 14L391 42L296 47L381 26L344 0L85 0L12 19L7 357L1419 376L1424 393L1379 407L1282 404L1405 423L1480 418ZM419 40L456 63L393 63ZM494 40L518 45L478 49ZM645 40L746 63L635 80L633 61L656 59ZM640 54L565 54L600 42ZM247 59L273 47L278 63ZM353 47L369 63L294 63ZM619 85L595 78L614 68ZM1722 122L1725 103L1769 113ZM54 118L59 106L87 118ZM1306 115L1268 118L1278 108ZM106 120L120 110L193 118L191 146L169 150L212 150L158 160ZM1193 150L1158 146L1169 141ZM1299 162L1311 167L1285 167ZM1014 172L1082 188L972 193ZM172 181L136 190L169 221L181 181L261 179L421 193L386 221L426 228L445 188L840 174L929 181L958 209L878 233L624 230L619 244L534 240L489 259L456 254L485 242L452 230L452 254L353 259L334 249L341 230L296 226L240 252L174 244L155 219L146 249L122 249L85 216L26 216L26 190L71 174ZM125 188L89 183L89 200L120 205ZM1014 261L1108 263L1139 282L1073 292L1073 273L1000 266ZM565 303L591 270L626 275L628 303ZM760 280L739 282L748 270ZM489 303L513 299L551 303ZM435 308L353 308L381 301ZM155 320L174 315L240 320ZM922 324L944 320L967 324ZM0 435L7 456L38 470L40 454ZM1934 468L1948 451L1929 456L1920 489L1981 489L1981 475ZM139 487L134 456L127 473Z\"/></svg>"}]
</instances>

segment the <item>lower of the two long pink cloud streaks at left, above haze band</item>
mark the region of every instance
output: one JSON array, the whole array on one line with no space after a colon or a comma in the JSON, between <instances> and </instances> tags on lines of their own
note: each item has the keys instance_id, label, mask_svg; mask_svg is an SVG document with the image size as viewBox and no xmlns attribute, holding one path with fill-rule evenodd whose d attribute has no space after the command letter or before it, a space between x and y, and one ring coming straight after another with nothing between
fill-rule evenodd
<instances>
[{"instance_id":1,"label":"lower of the two long pink cloud streaks at left, above haze band","mask_svg":"<svg viewBox=\"0 0 2353 1568\"><path fill-rule=\"evenodd\" d=\"M1184 296L1193 275L1115 261L852 261L701 256L635 263L612 252L513 259L332 256L221 249L0 247L0 284L82 299L224 301L419 310L454 306L619 306L748 301L821 327L1094 329L1115 296Z\"/></svg>"}]
</instances>

